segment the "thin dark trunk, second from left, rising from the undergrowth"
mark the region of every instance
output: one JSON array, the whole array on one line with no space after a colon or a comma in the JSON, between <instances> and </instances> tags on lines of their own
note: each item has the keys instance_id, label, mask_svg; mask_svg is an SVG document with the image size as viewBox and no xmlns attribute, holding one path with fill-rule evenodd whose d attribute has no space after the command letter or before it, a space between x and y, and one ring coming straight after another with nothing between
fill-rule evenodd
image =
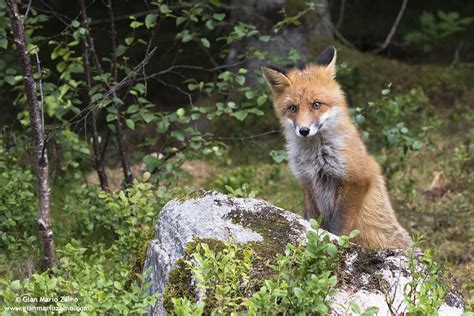
<instances>
[{"instance_id":1,"label":"thin dark trunk, second from left, rising from the undergrowth","mask_svg":"<svg viewBox=\"0 0 474 316\"><path fill-rule=\"evenodd\" d=\"M85 29L88 29L87 15L85 11L86 8L85 8L83 0L80 1L80 7L81 7L82 27L84 27ZM90 66L90 61L89 61L90 49L89 49L89 43L85 36L82 38L82 48L83 48L82 59L84 62L84 72L86 75L86 86L87 86L87 92L84 95L84 103L85 103L85 106L87 107L91 104L90 91L92 89L92 81L91 81L91 66ZM109 181L107 179L107 174L105 173L104 159L100 150L99 132L97 131L97 108L96 107L93 107L93 109L91 110L91 127L92 127L93 157L94 157L95 167L97 170L97 175L99 176L100 187L104 191L110 191Z\"/></svg>"}]
</instances>

